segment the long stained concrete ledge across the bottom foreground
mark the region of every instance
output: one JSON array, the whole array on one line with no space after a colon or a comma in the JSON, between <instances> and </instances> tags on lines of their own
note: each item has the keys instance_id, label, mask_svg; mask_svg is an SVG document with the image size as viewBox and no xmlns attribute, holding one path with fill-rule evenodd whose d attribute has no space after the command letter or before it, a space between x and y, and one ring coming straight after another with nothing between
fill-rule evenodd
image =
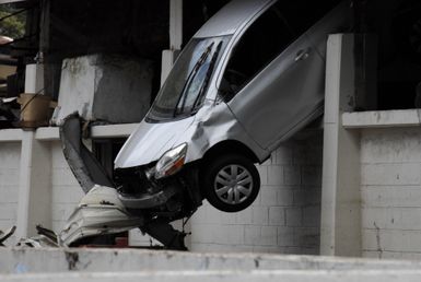
<instances>
[{"instance_id":1,"label":"long stained concrete ledge across the bottom foreground","mask_svg":"<svg viewBox=\"0 0 421 282\"><path fill-rule=\"evenodd\" d=\"M13 273L253 271L253 270L420 270L420 261L350 259L262 254L199 254L140 249L0 249L0 270ZM421 272L420 272L421 274Z\"/></svg>"}]
</instances>

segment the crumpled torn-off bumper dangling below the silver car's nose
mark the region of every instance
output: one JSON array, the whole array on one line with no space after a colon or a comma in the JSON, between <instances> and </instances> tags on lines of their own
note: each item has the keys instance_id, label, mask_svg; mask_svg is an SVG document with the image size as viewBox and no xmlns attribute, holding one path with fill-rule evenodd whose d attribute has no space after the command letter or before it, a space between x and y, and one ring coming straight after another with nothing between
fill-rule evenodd
<instances>
[{"instance_id":1,"label":"crumpled torn-off bumper dangling below the silver car's nose","mask_svg":"<svg viewBox=\"0 0 421 282\"><path fill-rule=\"evenodd\" d=\"M117 234L140 227L172 249L186 249L185 233L171 227L171 220L154 220L148 209L130 213L120 200L104 168L81 141L81 120L70 115L60 127L60 139L69 166L86 195L58 235L60 246L71 246L80 239L106 234ZM156 193L145 199L153 207L171 197L172 191ZM157 203L156 203L157 201ZM129 204L130 205L130 204Z\"/></svg>"}]
</instances>

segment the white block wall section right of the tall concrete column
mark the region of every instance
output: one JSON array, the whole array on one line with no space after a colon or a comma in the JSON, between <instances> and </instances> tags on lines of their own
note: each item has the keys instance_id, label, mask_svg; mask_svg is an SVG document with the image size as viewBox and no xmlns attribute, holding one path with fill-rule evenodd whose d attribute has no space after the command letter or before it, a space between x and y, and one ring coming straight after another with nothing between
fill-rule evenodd
<instances>
[{"instance_id":1,"label":"white block wall section right of the tall concrete column","mask_svg":"<svg viewBox=\"0 0 421 282\"><path fill-rule=\"evenodd\" d=\"M363 256L420 259L421 130L361 134Z\"/></svg>"}]
</instances>

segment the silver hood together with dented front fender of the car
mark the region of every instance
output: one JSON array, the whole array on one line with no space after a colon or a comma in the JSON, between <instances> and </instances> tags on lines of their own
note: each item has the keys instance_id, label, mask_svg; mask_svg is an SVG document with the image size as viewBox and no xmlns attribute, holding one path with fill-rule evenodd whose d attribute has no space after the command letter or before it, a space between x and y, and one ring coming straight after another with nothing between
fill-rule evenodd
<instances>
[{"instance_id":1,"label":"silver hood together with dented front fender of the car","mask_svg":"<svg viewBox=\"0 0 421 282\"><path fill-rule=\"evenodd\" d=\"M150 164L182 143L188 145L185 163L190 163L202 157L209 148L226 140L239 141L252 148L257 156L267 155L244 131L225 103L206 101L195 116L186 119L162 124L143 120L121 148L115 167Z\"/></svg>"}]
</instances>

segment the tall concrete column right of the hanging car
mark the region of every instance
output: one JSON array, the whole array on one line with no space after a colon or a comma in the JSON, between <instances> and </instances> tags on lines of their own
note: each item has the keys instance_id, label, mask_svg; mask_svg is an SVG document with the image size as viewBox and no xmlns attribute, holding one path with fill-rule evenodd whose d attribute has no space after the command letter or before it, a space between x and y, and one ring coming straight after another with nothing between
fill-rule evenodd
<instances>
[{"instance_id":1,"label":"tall concrete column right of the hanging car","mask_svg":"<svg viewBox=\"0 0 421 282\"><path fill-rule=\"evenodd\" d=\"M342 127L355 101L354 35L327 42L320 254L361 256L360 138Z\"/></svg>"}]
</instances>

